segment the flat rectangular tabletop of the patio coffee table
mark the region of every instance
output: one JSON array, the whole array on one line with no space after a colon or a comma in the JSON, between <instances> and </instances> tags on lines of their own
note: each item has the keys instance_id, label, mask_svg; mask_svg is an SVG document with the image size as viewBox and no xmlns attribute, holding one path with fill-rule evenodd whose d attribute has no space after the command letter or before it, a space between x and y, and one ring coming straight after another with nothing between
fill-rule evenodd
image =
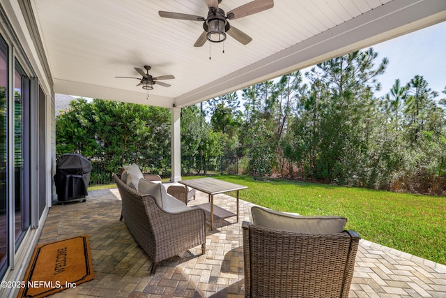
<instances>
[{"instance_id":1,"label":"flat rectangular tabletop of the patio coffee table","mask_svg":"<svg viewBox=\"0 0 446 298\"><path fill-rule=\"evenodd\" d=\"M197 189L197 191L202 191L208 195L217 195L218 193L227 193L229 191L240 191L240 189L248 188L247 186L233 184L231 182L222 181L215 178L199 178L190 180L181 180L178 183L190 186Z\"/></svg>"}]
</instances>

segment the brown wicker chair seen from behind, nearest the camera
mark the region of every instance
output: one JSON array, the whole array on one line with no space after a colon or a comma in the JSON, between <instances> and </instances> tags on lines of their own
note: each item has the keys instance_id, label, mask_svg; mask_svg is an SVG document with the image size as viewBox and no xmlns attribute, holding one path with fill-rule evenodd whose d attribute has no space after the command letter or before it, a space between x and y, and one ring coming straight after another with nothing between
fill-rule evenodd
<instances>
[{"instance_id":1,"label":"brown wicker chair seen from behind, nearest the camera","mask_svg":"<svg viewBox=\"0 0 446 298\"><path fill-rule=\"evenodd\" d=\"M348 297L359 235L308 234L243 222L245 297Z\"/></svg>"}]
</instances>

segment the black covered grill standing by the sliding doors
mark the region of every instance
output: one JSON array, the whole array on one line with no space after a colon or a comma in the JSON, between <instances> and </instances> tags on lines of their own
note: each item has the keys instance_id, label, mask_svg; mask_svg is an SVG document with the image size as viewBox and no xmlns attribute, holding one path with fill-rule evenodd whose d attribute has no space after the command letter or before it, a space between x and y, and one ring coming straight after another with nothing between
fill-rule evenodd
<instances>
[{"instance_id":1,"label":"black covered grill standing by the sliding doors","mask_svg":"<svg viewBox=\"0 0 446 298\"><path fill-rule=\"evenodd\" d=\"M63 154L57 161L54 183L57 200L64 202L89 195L91 163L80 154Z\"/></svg>"}]
</instances>

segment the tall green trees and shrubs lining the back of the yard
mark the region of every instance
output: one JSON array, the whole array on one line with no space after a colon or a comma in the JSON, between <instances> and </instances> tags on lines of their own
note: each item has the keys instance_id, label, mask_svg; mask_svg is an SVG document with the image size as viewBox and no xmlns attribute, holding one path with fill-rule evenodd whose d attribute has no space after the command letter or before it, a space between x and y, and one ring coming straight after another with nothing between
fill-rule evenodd
<instances>
[{"instance_id":1,"label":"tall green trees and shrubs lining the back of the yard","mask_svg":"<svg viewBox=\"0 0 446 298\"><path fill-rule=\"evenodd\" d=\"M239 156L259 179L442 194L446 99L421 75L376 96L388 64L369 48L185 107L181 153ZM56 152L156 155L168 167L170 125L167 108L81 99L56 117Z\"/></svg>"}]
</instances>

